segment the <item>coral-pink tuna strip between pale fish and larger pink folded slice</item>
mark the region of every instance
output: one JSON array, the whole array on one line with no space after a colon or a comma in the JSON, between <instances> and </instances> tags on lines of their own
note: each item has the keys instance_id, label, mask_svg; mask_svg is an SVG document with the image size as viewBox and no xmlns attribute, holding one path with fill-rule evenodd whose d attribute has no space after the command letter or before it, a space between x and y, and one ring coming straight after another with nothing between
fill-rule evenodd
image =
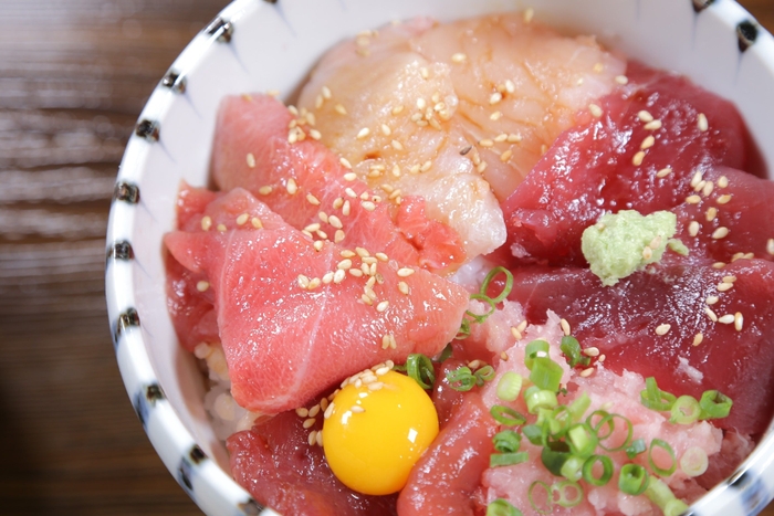
<instances>
[{"instance_id":1,"label":"coral-pink tuna strip between pale fish and larger pink folded slice","mask_svg":"<svg viewBox=\"0 0 774 516\"><path fill-rule=\"evenodd\" d=\"M245 188L296 229L318 224L324 234L312 230L315 238L384 252L405 265L443 270L464 261L457 232L425 218L423 206L421 213L404 213L417 204L396 207L364 182L345 179L349 170L323 144L311 137L289 143L293 119L266 95L226 97L212 151L218 187ZM420 218L425 228L417 231ZM401 220L410 222L411 234L402 231Z\"/></svg>"}]
</instances>

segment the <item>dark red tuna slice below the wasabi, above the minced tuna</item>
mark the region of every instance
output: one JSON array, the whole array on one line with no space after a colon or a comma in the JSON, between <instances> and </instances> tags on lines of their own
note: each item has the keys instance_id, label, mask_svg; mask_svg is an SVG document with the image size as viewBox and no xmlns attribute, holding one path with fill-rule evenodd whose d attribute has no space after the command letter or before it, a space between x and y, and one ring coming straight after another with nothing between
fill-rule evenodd
<instances>
[{"instance_id":1,"label":"dark red tuna slice below the wasabi, above the minced tuna","mask_svg":"<svg viewBox=\"0 0 774 516\"><path fill-rule=\"evenodd\" d=\"M544 320L547 309L567 319L580 345L599 348L616 373L653 376L677 396L720 390L734 404L717 425L760 434L774 412L774 263L738 260L722 270L710 264L653 266L609 287L587 268L522 267L513 271L509 297L524 306L531 323ZM733 287L719 292L732 276ZM726 315L730 323L720 319ZM665 324L668 331L657 335Z\"/></svg>"}]
</instances>

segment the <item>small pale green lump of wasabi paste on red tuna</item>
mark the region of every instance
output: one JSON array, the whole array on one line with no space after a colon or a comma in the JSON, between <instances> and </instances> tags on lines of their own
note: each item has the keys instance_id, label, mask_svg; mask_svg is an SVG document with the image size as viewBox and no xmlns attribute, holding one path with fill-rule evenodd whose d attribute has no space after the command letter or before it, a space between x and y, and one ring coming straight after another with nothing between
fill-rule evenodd
<instances>
[{"instance_id":1,"label":"small pale green lump of wasabi paste on red tuna","mask_svg":"<svg viewBox=\"0 0 774 516\"><path fill-rule=\"evenodd\" d=\"M688 254L682 242L672 239L676 232L677 217L670 211L642 215L635 210L623 210L605 214L586 228L580 249L592 272L603 285L610 286L659 262L667 245L676 253Z\"/></svg>"}]
</instances>

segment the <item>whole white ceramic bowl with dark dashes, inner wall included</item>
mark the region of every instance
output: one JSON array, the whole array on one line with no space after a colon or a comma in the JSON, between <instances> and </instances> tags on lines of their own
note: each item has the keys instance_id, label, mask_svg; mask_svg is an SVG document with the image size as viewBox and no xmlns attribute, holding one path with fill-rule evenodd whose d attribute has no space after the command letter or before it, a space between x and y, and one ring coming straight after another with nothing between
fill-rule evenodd
<instances>
[{"instance_id":1,"label":"whole white ceramic bowl with dark dashes, inner wall included","mask_svg":"<svg viewBox=\"0 0 774 516\"><path fill-rule=\"evenodd\" d=\"M194 357L165 304L161 236L181 179L208 182L215 114L227 94L293 92L331 45L363 29L429 14L448 21L532 7L733 101L774 170L774 39L731 0L237 0L197 35L156 87L121 165L107 232L106 295L126 390L161 460L210 515L273 514L228 473L202 407ZM697 515L756 514L774 497L774 433Z\"/></svg>"}]
</instances>

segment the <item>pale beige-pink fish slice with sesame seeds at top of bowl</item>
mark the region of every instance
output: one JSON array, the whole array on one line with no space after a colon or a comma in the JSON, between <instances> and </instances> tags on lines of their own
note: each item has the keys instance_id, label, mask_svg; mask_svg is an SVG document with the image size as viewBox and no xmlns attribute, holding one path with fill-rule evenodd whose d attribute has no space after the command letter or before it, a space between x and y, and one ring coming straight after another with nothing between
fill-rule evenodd
<instances>
[{"instance_id":1,"label":"pale beige-pink fish slice with sesame seeds at top of bowl","mask_svg":"<svg viewBox=\"0 0 774 516\"><path fill-rule=\"evenodd\" d=\"M363 180L425 198L474 257L504 242L498 199L624 70L522 13L417 18L331 50L299 106Z\"/></svg>"}]
</instances>

